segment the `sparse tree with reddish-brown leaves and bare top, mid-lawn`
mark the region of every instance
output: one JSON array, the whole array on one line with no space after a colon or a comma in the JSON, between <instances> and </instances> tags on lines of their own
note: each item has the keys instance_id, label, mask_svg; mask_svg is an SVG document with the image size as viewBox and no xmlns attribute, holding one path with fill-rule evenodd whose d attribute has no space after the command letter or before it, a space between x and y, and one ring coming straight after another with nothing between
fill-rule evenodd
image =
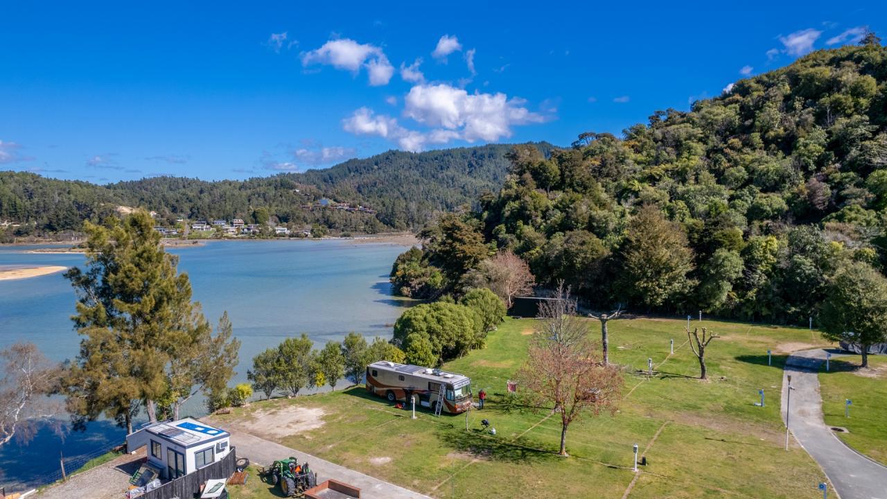
<instances>
[{"instance_id":1,"label":"sparse tree with reddish-brown leaves and bare top, mid-lawn","mask_svg":"<svg viewBox=\"0 0 887 499\"><path fill-rule=\"evenodd\" d=\"M539 308L539 325L518 378L530 403L553 405L560 414L560 454L566 456L569 424L585 413L615 412L623 378L597 360L587 323L576 316L569 291L561 287L555 299Z\"/></svg>"}]
</instances>

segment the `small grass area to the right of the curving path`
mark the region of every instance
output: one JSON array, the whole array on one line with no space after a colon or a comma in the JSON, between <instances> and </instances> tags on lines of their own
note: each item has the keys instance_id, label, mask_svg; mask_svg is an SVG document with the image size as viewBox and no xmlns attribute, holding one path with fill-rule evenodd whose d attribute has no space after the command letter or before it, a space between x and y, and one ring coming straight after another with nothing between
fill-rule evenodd
<instances>
[{"instance_id":1,"label":"small grass area to the right of the curving path","mask_svg":"<svg viewBox=\"0 0 887 499\"><path fill-rule=\"evenodd\" d=\"M868 356L868 369L860 357L832 360L831 370L820 372L822 413L826 424L842 426L836 433L844 443L876 461L887 464L887 357ZM844 417L844 400L852 400L850 417Z\"/></svg>"}]
</instances>

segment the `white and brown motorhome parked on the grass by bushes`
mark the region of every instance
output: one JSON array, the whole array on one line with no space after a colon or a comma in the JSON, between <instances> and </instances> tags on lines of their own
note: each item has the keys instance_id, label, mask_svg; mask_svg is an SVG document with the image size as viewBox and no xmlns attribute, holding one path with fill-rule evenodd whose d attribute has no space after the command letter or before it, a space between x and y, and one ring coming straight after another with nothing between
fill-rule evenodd
<instances>
[{"instance_id":1,"label":"white and brown motorhome parked on the grass by bushes","mask_svg":"<svg viewBox=\"0 0 887 499\"><path fill-rule=\"evenodd\" d=\"M366 367L366 391L391 402L408 402L415 395L418 405L436 413L459 414L472 403L471 379L467 376L388 360Z\"/></svg>"}]
</instances>

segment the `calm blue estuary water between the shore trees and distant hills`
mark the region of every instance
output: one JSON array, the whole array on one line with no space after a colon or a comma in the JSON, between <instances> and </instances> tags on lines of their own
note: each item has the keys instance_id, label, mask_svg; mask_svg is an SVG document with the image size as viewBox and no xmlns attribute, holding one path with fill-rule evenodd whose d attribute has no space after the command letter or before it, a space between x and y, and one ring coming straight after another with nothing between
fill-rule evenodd
<instances>
[{"instance_id":1,"label":"calm blue estuary water between the shore trees and distant hills","mask_svg":"<svg viewBox=\"0 0 887 499\"><path fill-rule=\"evenodd\" d=\"M0 268L83 265L79 254L29 253L45 246L0 247ZM306 333L322 347L349 331L390 337L407 302L391 296L388 274L403 246L382 242L219 241L168 249L191 278L193 299L215 326L228 312L241 342L232 384L246 381L256 353ZM73 329L75 293L62 273L0 281L0 348L30 341L52 360L74 359L80 337ZM200 403L184 408L199 416ZM125 430L111 422L59 439L41 432L27 445L0 447L0 486L37 485L59 471L59 451L73 467L121 443ZM70 471L70 470L69 470ZM7 487L7 490L10 490Z\"/></svg>"}]
</instances>

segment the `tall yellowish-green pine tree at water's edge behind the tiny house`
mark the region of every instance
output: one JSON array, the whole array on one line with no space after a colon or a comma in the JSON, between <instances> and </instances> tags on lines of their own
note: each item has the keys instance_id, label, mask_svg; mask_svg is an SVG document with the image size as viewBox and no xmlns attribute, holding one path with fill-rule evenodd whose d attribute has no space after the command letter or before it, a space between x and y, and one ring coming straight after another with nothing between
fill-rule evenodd
<instances>
[{"instance_id":1,"label":"tall yellowish-green pine tree at water's edge behind the tiny house","mask_svg":"<svg viewBox=\"0 0 887 499\"><path fill-rule=\"evenodd\" d=\"M230 340L230 323L211 336L153 219L138 211L84 230L87 267L65 274L77 291L72 319L83 337L65 391L80 422L104 413L131 430L139 405L153 422L158 400L172 401L177 413L194 385L208 392L226 384L239 343ZM222 365L208 366L213 361Z\"/></svg>"}]
</instances>

